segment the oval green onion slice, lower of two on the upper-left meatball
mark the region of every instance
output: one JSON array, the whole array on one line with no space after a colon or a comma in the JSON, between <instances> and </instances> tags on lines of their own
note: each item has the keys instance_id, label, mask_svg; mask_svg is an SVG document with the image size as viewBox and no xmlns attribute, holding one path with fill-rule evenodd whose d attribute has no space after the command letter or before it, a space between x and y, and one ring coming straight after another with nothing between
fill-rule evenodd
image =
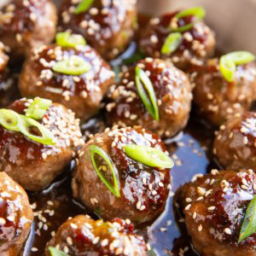
<instances>
[{"instance_id":1,"label":"oval green onion slice, lower of two on the upper-left meatball","mask_svg":"<svg viewBox=\"0 0 256 256\"><path fill-rule=\"evenodd\" d=\"M88 72L90 70L90 64L78 55L73 55L67 60L56 62L53 70L57 73L76 76Z\"/></svg>"}]
</instances>

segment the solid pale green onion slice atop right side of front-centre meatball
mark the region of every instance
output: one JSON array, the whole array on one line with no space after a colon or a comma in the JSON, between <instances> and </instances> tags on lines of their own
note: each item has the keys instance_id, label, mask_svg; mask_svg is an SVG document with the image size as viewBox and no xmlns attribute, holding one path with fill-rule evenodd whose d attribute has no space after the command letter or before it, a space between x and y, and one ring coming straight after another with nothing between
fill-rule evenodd
<instances>
[{"instance_id":1,"label":"solid pale green onion slice atop right side of front-centre meatball","mask_svg":"<svg viewBox=\"0 0 256 256\"><path fill-rule=\"evenodd\" d=\"M124 146L125 154L131 159L137 160L145 166L172 168L174 166L172 159L157 148L127 144Z\"/></svg>"}]
</instances>

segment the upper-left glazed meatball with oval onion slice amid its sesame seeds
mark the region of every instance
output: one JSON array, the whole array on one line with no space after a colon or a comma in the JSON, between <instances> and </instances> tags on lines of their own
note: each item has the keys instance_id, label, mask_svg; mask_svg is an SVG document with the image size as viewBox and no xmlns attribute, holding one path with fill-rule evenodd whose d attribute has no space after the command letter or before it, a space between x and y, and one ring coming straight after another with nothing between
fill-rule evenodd
<instances>
[{"instance_id":1,"label":"upper-left glazed meatball with oval onion slice amid its sesame seeds","mask_svg":"<svg viewBox=\"0 0 256 256\"><path fill-rule=\"evenodd\" d=\"M71 75L55 72L56 61L79 56L90 65L88 72ZM22 96L41 96L59 102L85 120L101 108L102 98L113 84L114 73L89 45L76 48L42 46L32 50L20 74Z\"/></svg>"}]
</instances>

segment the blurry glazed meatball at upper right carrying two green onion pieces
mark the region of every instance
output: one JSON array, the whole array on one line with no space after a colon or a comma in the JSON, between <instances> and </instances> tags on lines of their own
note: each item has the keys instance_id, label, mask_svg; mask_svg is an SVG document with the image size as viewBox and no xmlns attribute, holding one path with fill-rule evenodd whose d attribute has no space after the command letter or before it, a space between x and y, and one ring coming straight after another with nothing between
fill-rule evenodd
<instances>
[{"instance_id":1,"label":"blurry glazed meatball at upper right carrying two green onion pieces","mask_svg":"<svg viewBox=\"0 0 256 256\"><path fill-rule=\"evenodd\" d=\"M175 51L168 55L161 54L166 38L171 33L170 25L185 26L196 19L195 16L186 16L177 20L177 13L149 20L141 34L140 48L151 57L171 59L181 69L187 69L191 64L202 65L207 57L213 55L215 49L215 34L203 21L196 22L191 29L182 32L181 43Z\"/></svg>"}]
</instances>

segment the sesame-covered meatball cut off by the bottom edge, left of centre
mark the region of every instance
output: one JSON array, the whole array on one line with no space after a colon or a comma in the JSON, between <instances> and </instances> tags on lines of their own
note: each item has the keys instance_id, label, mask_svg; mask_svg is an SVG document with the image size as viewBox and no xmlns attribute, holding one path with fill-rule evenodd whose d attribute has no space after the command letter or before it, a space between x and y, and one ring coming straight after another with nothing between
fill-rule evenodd
<instances>
[{"instance_id":1,"label":"sesame-covered meatball cut off by the bottom edge, left of centre","mask_svg":"<svg viewBox=\"0 0 256 256\"><path fill-rule=\"evenodd\" d=\"M143 237L132 231L133 225L129 219L114 218L104 222L102 219L93 220L89 216L79 215L61 225L48 242L45 254L49 256L49 247L56 247L73 256L146 256Z\"/></svg>"}]
</instances>

